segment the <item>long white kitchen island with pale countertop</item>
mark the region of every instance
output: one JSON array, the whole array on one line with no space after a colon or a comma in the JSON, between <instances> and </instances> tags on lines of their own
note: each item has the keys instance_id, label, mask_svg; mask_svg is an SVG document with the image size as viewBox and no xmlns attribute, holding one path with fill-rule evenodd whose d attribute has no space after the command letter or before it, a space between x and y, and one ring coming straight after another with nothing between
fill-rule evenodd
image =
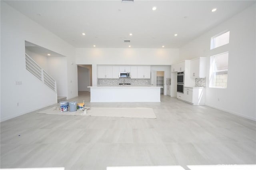
<instances>
[{"instance_id":1,"label":"long white kitchen island with pale countertop","mask_svg":"<svg viewBox=\"0 0 256 170\"><path fill-rule=\"evenodd\" d=\"M90 86L90 102L160 102L156 86Z\"/></svg>"}]
</instances>

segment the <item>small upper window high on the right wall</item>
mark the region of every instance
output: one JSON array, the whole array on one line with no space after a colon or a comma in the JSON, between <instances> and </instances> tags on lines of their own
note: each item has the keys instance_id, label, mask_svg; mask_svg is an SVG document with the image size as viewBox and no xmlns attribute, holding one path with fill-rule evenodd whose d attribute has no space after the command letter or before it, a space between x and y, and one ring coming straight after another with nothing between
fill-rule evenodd
<instances>
[{"instance_id":1,"label":"small upper window high on the right wall","mask_svg":"<svg viewBox=\"0 0 256 170\"><path fill-rule=\"evenodd\" d=\"M218 34L211 38L211 49L220 47L229 43L229 31Z\"/></svg>"}]
</instances>

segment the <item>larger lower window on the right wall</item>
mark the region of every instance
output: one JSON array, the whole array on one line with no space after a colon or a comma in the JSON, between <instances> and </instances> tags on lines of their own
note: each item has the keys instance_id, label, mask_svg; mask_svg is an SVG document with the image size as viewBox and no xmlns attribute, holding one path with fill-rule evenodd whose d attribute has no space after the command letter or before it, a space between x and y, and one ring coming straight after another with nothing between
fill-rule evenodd
<instances>
[{"instance_id":1,"label":"larger lower window on the right wall","mask_svg":"<svg viewBox=\"0 0 256 170\"><path fill-rule=\"evenodd\" d=\"M227 88L228 52L210 57L210 87Z\"/></svg>"}]
</instances>

